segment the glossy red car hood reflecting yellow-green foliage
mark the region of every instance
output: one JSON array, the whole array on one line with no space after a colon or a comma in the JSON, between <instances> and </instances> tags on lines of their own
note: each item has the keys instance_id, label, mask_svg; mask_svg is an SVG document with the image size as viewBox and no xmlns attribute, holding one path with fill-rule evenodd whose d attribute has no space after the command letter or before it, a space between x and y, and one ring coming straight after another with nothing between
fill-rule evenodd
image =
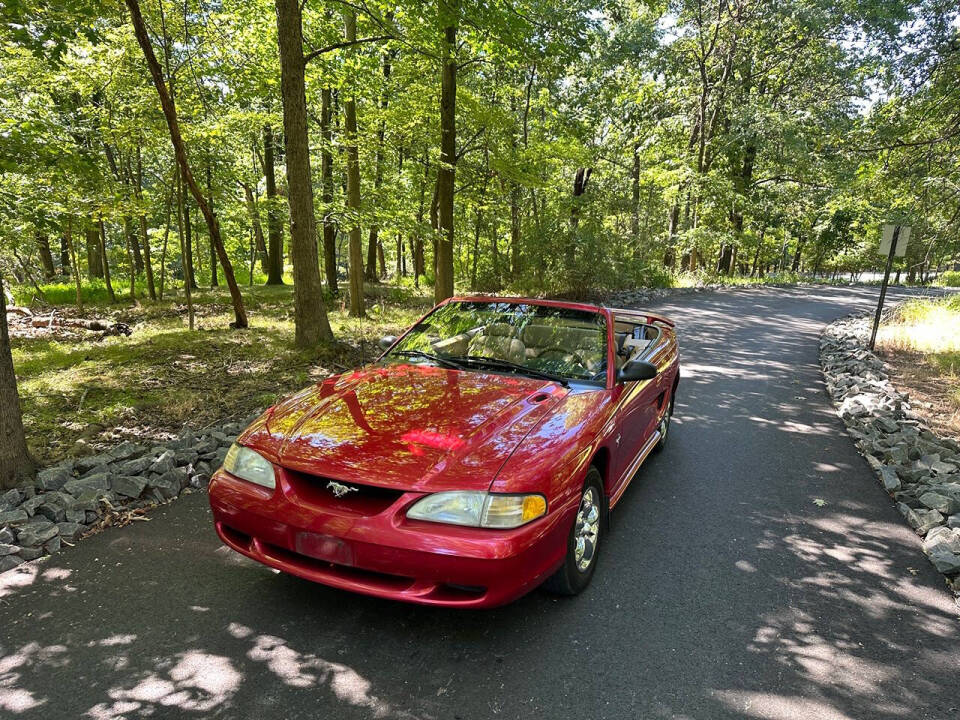
<instances>
[{"instance_id":1,"label":"glossy red car hood reflecting yellow-green foliage","mask_svg":"<svg viewBox=\"0 0 960 720\"><path fill-rule=\"evenodd\" d=\"M486 490L568 393L518 375L373 366L328 378L241 435L282 467L400 490Z\"/></svg>"}]
</instances>

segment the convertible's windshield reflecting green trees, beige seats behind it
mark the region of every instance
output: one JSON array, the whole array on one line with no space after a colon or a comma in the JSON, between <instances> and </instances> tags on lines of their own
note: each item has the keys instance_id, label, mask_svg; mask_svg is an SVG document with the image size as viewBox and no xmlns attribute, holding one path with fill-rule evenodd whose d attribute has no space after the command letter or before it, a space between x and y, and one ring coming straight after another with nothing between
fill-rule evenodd
<instances>
[{"instance_id":1,"label":"convertible's windshield reflecting green trees, beige seats behind it","mask_svg":"<svg viewBox=\"0 0 960 720\"><path fill-rule=\"evenodd\" d=\"M604 316L527 303L452 302L414 326L388 357L459 362L464 369L518 366L531 375L606 381ZM484 367L484 361L489 361Z\"/></svg>"}]
</instances>

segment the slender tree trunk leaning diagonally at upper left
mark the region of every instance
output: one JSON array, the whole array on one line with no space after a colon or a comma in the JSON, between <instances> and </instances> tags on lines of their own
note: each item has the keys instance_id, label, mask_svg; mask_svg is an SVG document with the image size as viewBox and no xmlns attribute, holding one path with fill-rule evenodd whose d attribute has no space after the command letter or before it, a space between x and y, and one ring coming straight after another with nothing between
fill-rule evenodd
<instances>
[{"instance_id":1,"label":"slender tree trunk leaning diagonally at upper left","mask_svg":"<svg viewBox=\"0 0 960 720\"><path fill-rule=\"evenodd\" d=\"M240 295L240 288L237 286L237 280L233 276L233 266L230 264L230 258L227 257L227 251L223 247L220 239L220 227L217 219L200 192L197 182L190 170L190 163L187 160L187 150L183 144L183 138L180 136L180 126L177 122L177 111L173 106L173 101L167 92L167 86L163 81L163 70L160 63L157 62L156 55L153 54L153 46L150 44L150 36L147 34L147 26L140 14L140 4L138 0L126 0L127 7L130 10L130 18L133 21L134 32L137 36L137 42L143 50L143 55L150 68L150 74L153 76L153 84L157 88L157 94L160 96L160 105L163 108L163 114L167 119L167 128L170 130L170 140L173 144L174 154L177 157L177 163L180 165L180 173L184 181L190 188L197 205L200 206L200 212L203 213L207 221L207 229L210 233L210 239L217 249L217 255L220 258L220 264L223 265L224 279L230 288L230 298L233 301L234 326L238 328L247 327L247 313L243 307L243 297Z\"/></svg>"}]
</instances>

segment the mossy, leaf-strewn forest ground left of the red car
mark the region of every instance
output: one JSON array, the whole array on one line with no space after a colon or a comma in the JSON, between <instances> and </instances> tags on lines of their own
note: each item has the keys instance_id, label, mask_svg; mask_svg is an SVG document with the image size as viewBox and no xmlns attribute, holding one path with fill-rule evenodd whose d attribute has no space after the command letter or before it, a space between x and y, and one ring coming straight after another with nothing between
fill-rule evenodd
<instances>
[{"instance_id":1,"label":"mossy, leaf-strewn forest ground left of the red car","mask_svg":"<svg viewBox=\"0 0 960 720\"><path fill-rule=\"evenodd\" d=\"M226 288L195 291L196 331L187 330L182 297L138 306L72 305L39 310L124 323L129 336L29 326L11 327L14 367L28 442L44 465L121 440L162 441L244 418L285 393L379 354L377 340L397 334L433 304L430 289L367 286L367 314L328 307L337 342L293 346L293 293L243 288L250 327L232 330Z\"/></svg>"}]
</instances>

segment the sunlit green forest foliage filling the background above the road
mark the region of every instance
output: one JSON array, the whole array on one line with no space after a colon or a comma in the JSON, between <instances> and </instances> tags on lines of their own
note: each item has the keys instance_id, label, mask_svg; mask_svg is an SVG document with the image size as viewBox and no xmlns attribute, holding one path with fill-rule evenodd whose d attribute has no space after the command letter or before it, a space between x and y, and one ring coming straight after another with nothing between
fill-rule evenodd
<instances>
[{"instance_id":1,"label":"sunlit green forest foliage filling the background above the road","mask_svg":"<svg viewBox=\"0 0 960 720\"><path fill-rule=\"evenodd\" d=\"M888 221L914 228L911 279L960 251L943 0L132 5L197 193L128 8L4 3L12 281L143 300L293 265L299 328L322 313L317 272L362 315L387 277L442 298L859 272Z\"/></svg>"}]
</instances>

